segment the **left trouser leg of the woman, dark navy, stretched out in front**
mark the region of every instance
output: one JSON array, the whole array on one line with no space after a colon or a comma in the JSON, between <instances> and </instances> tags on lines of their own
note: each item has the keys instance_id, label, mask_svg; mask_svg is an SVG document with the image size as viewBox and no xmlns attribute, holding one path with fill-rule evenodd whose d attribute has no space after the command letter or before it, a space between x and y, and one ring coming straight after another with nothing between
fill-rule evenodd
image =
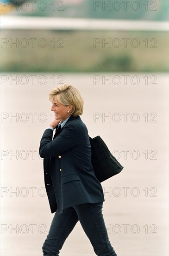
<instances>
[{"instance_id":1,"label":"left trouser leg of the woman, dark navy, stretched out in front","mask_svg":"<svg viewBox=\"0 0 169 256\"><path fill-rule=\"evenodd\" d=\"M63 243L78 222L78 216L73 208L63 210L62 214L57 211L53 217L49 234L43 244L44 256L58 256Z\"/></svg>"}]
</instances>

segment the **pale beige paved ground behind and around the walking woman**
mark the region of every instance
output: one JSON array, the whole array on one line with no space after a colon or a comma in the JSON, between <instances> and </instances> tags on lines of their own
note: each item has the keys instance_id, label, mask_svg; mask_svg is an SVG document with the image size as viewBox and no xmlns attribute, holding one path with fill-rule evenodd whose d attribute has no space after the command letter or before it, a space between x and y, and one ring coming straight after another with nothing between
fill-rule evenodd
<instances>
[{"instance_id":1,"label":"pale beige paved ground behind and around the walking woman","mask_svg":"<svg viewBox=\"0 0 169 256\"><path fill-rule=\"evenodd\" d=\"M84 96L89 135L100 135L124 166L102 183L114 249L118 256L168 256L167 75L16 75L1 76L1 255L42 256L53 215L39 141L52 120L50 89L70 83ZM94 256L79 223L60 255Z\"/></svg>"}]
</instances>

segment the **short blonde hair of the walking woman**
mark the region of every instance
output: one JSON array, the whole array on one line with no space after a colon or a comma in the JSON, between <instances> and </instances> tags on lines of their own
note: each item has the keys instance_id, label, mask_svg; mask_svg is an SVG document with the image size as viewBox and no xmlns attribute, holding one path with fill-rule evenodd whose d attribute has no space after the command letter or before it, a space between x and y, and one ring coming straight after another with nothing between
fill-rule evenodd
<instances>
[{"instance_id":1,"label":"short blonde hair of the walking woman","mask_svg":"<svg viewBox=\"0 0 169 256\"><path fill-rule=\"evenodd\" d=\"M49 100L57 100L65 106L72 105L70 114L73 116L79 116L83 113L83 98L80 91L73 85L64 84L53 88L49 93Z\"/></svg>"}]
</instances>

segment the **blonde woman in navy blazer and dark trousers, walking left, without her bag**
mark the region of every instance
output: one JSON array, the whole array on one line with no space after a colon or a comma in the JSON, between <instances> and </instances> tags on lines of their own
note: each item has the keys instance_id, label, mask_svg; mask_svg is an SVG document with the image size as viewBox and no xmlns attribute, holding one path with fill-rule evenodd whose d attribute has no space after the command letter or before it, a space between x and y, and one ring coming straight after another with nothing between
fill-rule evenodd
<instances>
[{"instance_id":1,"label":"blonde woman in navy blazer and dark trousers, walking left, without her bag","mask_svg":"<svg viewBox=\"0 0 169 256\"><path fill-rule=\"evenodd\" d=\"M55 121L44 131L39 155L44 158L45 188L51 213L55 215L43 244L43 255L58 256L80 221L96 255L117 256L102 215L104 195L91 163L88 129L80 118L81 93L65 84L52 89L49 99Z\"/></svg>"}]
</instances>

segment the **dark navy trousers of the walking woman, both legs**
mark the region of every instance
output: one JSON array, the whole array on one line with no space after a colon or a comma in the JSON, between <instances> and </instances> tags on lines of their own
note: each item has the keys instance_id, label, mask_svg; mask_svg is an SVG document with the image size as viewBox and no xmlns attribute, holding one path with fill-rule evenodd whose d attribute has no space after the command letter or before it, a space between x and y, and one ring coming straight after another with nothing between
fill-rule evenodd
<instances>
[{"instance_id":1,"label":"dark navy trousers of the walking woman, both legs","mask_svg":"<svg viewBox=\"0 0 169 256\"><path fill-rule=\"evenodd\" d=\"M43 244L44 256L58 256L63 243L75 227L78 220L93 245L98 256L117 256L107 236L102 215L103 202L79 204L57 211L53 217L49 234Z\"/></svg>"}]
</instances>

